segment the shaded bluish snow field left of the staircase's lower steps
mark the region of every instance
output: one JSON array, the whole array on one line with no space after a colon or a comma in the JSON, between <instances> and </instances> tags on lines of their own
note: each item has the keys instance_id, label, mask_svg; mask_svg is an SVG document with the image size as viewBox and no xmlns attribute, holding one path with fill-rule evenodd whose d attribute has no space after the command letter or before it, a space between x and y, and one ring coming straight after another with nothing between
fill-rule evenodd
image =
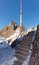
<instances>
[{"instance_id":1,"label":"shaded bluish snow field left of the staircase's lower steps","mask_svg":"<svg viewBox=\"0 0 39 65\"><path fill-rule=\"evenodd\" d=\"M7 43L0 44L0 65L13 65L17 60L14 55L14 48L11 48Z\"/></svg>"}]
</instances>

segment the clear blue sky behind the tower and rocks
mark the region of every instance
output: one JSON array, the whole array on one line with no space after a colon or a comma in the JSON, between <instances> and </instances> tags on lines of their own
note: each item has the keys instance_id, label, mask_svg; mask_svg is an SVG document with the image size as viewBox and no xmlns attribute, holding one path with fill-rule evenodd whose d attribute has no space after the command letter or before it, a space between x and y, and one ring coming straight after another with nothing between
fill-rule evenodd
<instances>
[{"instance_id":1,"label":"clear blue sky behind the tower and rocks","mask_svg":"<svg viewBox=\"0 0 39 65\"><path fill-rule=\"evenodd\" d=\"M39 24L39 0L23 1L23 25L28 29ZM20 23L20 0L0 0L0 29L11 20Z\"/></svg>"}]
</instances>

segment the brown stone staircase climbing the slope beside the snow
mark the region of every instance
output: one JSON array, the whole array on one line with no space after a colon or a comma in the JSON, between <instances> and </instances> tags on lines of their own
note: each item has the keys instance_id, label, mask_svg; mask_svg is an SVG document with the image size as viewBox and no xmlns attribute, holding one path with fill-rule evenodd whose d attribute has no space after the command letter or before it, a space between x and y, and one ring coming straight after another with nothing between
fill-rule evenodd
<instances>
[{"instance_id":1,"label":"brown stone staircase climbing the slope beside the snow","mask_svg":"<svg viewBox=\"0 0 39 65\"><path fill-rule=\"evenodd\" d=\"M20 42L18 46L16 46L16 54L17 61L14 62L14 65L22 65L22 63L28 59L30 54L30 49L32 49L32 38L35 32L29 33L28 35L24 36L23 40ZM34 41L34 40L33 40ZM30 48L31 47L31 48ZM27 60L26 60L27 61Z\"/></svg>"}]
</instances>

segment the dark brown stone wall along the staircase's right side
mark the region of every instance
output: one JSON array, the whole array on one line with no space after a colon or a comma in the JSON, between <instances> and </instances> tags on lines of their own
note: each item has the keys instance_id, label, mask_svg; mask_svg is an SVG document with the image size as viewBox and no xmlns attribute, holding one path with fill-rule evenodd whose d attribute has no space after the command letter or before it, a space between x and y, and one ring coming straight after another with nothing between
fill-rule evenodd
<instances>
[{"instance_id":1,"label":"dark brown stone wall along the staircase's right side","mask_svg":"<svg viewBox=\"0 0 39 65\"><path fill-rule=\"evenodd\" d=\"M39 65L39 26L37 27L37 32L35 36L36 37L33 42L33 52L30 58L29 65Z\"/></svg>"}]
</instances>

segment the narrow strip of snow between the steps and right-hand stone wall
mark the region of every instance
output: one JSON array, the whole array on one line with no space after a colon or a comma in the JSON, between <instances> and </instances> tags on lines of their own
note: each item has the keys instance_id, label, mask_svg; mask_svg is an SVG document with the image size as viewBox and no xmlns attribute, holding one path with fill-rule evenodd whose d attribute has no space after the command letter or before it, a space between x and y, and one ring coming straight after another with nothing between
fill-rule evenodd
<instances>
[{"instance_id":1,"label":"narrow strip of snow between the steps and right-hand stone wall","mask_svg":"<svg viewBox=\"0 0 39 65\"><path fill-rule=\"evenodd\" d=\"M30 58L32 56L32 52L33 52L33 42L36 38L36 31L34 32L33 36L32 36L32 40L31 40L31 45L30 45L30 49L29 49L29 55L26 57L26 60L24 61L24 63L22 65L29 65L30 63Z\"/></svg>"}]
</instances>

